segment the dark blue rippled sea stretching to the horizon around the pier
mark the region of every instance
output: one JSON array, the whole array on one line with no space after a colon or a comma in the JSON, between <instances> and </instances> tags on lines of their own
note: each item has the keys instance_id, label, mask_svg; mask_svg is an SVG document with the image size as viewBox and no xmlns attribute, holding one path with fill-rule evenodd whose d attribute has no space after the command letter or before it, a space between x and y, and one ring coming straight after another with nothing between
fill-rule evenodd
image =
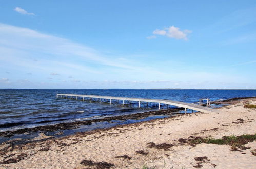
<instances>
[{"instance_id":1,"label":"dark blue rippled sea stretching to the horizon around the pier","mask_svg":"<svg viewBox=\"0 0 256 169\"><path fill-rule=\"evenodd\" d=\"M148 107L138 108L137 102L125 104L99 103L97 100L71 100L56 98L57 93L85 94L101 96L120 96L134 98L168 99L187 103L198 103L200 98L219 101L236 97L255 97L256 90L206 90L206 89L81 89L81 90L37 90L0 89L0 132L34 126L52 125L63 122L89 120L109 116L127 115L157 110L158 105L149 103ZM107 101L107 100L105 100ZM164 118L152 116L142 120ZM128 120L125 123L137 122ZM94 128L81 128L88 131L124 122L95 125ZM70 132L67 132L70 134ZM72 133L72 132L71 132Z\"/></svg>"}]
</instances>

